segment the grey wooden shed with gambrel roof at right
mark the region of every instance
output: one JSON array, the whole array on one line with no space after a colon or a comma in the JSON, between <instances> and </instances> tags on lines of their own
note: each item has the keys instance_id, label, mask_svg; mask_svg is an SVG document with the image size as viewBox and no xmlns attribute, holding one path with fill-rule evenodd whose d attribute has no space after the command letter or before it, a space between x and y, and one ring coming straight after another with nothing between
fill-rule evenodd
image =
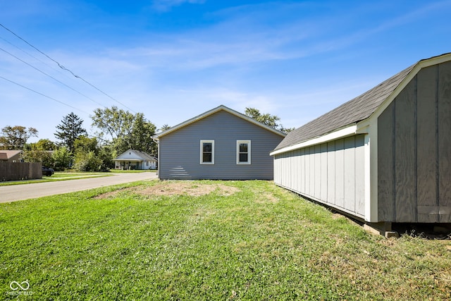
<instances>
[{"instance_id":1,"label":"grey wooden shed with gambrel roof at right","mask_svg":"<svg viewBox=\"0 0 451 301\"><path fill-rule=\"evenodd\" d=\"M277 185L386 231L450 223L451 54L292 131L271 155Z\"/></svg>"}]
</instances>

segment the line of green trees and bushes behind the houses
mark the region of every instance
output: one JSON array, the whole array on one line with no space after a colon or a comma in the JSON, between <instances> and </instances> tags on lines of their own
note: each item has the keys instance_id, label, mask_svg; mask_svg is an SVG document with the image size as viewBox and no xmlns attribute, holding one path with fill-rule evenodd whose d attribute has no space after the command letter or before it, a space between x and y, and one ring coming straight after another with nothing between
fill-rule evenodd
<instances>
[{"instance_id":1,"label":"line of green trees and bushes behind the houses","mask_svg":"<svg viewBox=\"0 0 451 301\"><path fill-rule=\"evenodd\" d=\"M291 128L283 128L280 118L260 113L258 109L246 108L245 114L268 126L288 133ZM54 136L58 140L41 139L27 143L30 137L38 137L36 128L21 125L1 129L0 149L21 149L23 159L28 162L41 162L42 165L63 171L73 168L78 171L106 171L114 168L113 159L127 149L136 149L158 157L156 142L152 136L156 126L143 113L130 113L117 106L95 109L92 125L97 132L89 137L83 128L83 120L71 112L56 125ZM159 130L167 130L163 125Z\"/></svg>"}]
</instances>

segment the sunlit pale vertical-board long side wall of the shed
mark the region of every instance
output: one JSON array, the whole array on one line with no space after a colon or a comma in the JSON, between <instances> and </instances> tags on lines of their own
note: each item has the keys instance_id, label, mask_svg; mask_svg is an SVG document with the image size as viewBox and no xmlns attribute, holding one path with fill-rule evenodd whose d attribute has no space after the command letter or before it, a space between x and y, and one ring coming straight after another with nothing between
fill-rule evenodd
<instances>
[{"instance_id":1,"label":"sunlit pale vertical-board long side wall of the shed","mask_svg":"<svg viewBox=\"0 0 451 301\"><path fill-rule=\"evenodd\" d=\"M274 182L354 216L365 215L365 135L274 156Z\"/></svg>"}]
</instances>

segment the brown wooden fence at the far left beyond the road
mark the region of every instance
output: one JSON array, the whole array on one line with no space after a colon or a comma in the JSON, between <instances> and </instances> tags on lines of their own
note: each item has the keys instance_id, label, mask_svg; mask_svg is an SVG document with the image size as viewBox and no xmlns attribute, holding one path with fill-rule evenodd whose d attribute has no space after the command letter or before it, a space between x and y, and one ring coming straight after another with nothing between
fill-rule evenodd
<instances>
[{"instance_id":1,"label":"brown wooden fence at the far left beyond the road","mask_svg":"<svg viewBox=\"0 0 451 301\"><path fill-rule=\"evenodd\" d=\"M0 162L0 182L42 178L42 164L28 162Z\"/></svg>"}]
</instances>

